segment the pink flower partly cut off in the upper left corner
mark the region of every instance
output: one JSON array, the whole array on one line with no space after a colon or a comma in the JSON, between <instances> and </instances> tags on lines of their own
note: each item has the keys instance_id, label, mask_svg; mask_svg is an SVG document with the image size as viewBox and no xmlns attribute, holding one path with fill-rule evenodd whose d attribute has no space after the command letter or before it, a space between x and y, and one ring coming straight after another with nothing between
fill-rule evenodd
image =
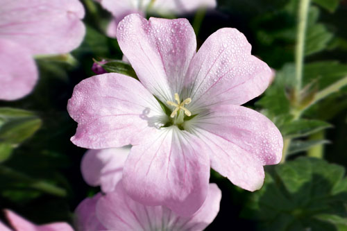
<instances>
[{"instance_id":1,"label":"pink flower partly cut off in the upper left corner","mask_svg":"<svg viewBox=\"0 0 347 231\"><path fill-rule=\"evenodd\" d=\"M68 53L81 44L84 9L78 0L0 0L0 99L29 94L37 54Z\"/></svg>"}]
</instances>

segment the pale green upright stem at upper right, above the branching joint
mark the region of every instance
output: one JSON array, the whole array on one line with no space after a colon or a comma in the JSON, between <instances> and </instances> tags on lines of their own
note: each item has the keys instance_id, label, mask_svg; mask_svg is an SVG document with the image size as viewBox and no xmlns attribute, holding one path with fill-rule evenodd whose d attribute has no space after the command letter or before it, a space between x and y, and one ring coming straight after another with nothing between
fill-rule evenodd
<instances>
[{"instance_id":1,"label":"pale green upright stem at upper right, above the branching joint","mask_svg":"<svg viewBox=\"0 0 347 231\"><path fill-rule=\"evenodd\" d=\"M300 92L303 82L303 65L305 58L305 37L307 28L307 15L310 8L310 0L301 0L298 14L298 33L296 37L296 88L294 97L300 101Z\"/></svg>"}]
</instances>

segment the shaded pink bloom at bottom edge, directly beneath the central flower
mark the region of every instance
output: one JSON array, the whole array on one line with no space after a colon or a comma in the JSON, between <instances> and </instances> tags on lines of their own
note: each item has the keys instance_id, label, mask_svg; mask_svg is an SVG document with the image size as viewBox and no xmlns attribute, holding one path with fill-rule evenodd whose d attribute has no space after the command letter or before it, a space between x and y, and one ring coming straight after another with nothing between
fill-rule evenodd
<instances>
[{"instance_id":1,"label":"shaded pink bloom at bottom edge, directly beneath the central flower","mask_svg":"<svg viewBox=\"0 0 347 231\"><path fill-rule=\"evenodd\" d=\"M96 194L86 198L76 209L78 230L187 230L205 229L219 212L221 190L215 184L208 187L208 196L201 208L192 216L181 217L163 206L137 203L124 191L121 182L115 191L105 196Z\"/></svg>"}]
</instances>

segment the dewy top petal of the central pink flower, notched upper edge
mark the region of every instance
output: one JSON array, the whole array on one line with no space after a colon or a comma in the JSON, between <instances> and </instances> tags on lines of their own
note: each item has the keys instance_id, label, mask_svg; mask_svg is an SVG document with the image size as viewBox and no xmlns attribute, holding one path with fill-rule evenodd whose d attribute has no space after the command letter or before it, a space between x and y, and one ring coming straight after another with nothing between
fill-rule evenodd
<instances>
[{"instance_id":1,"label":"dewy top petal of the central pink flower, notched upper edge","mask_svg":"<svg viewBox=\"0 0 347 231\"><path fill-rule=\"evenodd\" d=\"M196 52L194 30L187 19L149 21L128 15L118 26L117 39L139 80L163 102L174 101Z\"/></svg>"}]
</instances>

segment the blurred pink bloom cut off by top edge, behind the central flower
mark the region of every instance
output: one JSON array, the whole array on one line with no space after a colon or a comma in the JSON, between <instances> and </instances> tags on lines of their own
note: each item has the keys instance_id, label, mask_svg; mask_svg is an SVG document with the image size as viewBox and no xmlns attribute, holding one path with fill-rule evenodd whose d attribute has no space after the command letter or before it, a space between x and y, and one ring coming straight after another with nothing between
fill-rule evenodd
<instances>
[{"instance_id":1,"label":"blurred pink bloom cut off by top edge, behind the central flower","mask_svg":"<svg viewBox=\"0 0 347 231\"><path fill-rule=\"evenodd\" d=\"M160 15L184 14L198 8L215 8L216 0L96 0L115 17L108 25L107 34L117 36L117 26L126 15L152 12Z\"/></svg>"}]
</instances>

